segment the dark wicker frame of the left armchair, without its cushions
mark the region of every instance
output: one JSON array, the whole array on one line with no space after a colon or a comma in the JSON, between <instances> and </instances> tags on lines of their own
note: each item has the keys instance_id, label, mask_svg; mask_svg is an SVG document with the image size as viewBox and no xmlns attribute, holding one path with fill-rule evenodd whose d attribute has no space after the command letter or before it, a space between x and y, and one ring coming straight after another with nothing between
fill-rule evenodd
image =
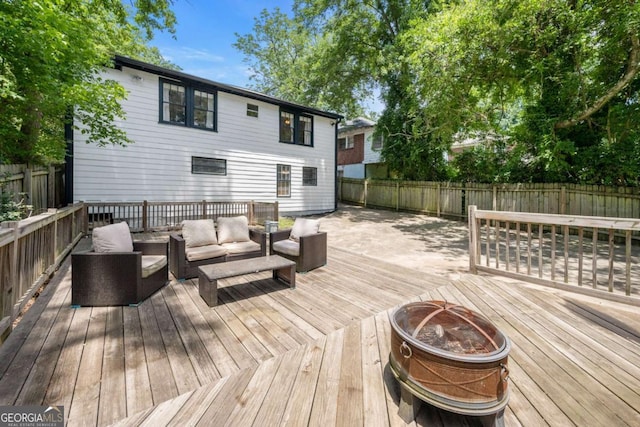
<instances>
[{"instance_id":1,"label":"dark wicker frame of the left armchair, without its cushions","mask_svg":"<svg viewBox=\"0 0 640 427\"><path fill-rule=\"evenodd\" d=\"M164 256L164 266L143 277L143 255ZM133 242L133 252L73 253L71 304L139 304L168 283L169 266L166 258L167 242Z\"/></svg>"}]
</instances>

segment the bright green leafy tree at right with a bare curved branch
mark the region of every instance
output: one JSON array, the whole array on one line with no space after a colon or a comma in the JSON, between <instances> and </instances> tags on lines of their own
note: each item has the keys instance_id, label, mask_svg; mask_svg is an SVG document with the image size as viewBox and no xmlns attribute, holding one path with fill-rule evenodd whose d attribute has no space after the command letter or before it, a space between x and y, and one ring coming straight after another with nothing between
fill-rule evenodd
<instances>
[{"instance_id":1,"label":"bright green leafy tree at right with a bare curved branch","mask_svg":"<svg viewBox=\"0 0 640 427\"><path fill-rule=\"evenodd\" d=\"M583 182L595 153L637 151L610 148L638 145L639 17L617 0L468 0L404 43L436 128L509 136L503 178Z\"/></svg>"}]
</instances>

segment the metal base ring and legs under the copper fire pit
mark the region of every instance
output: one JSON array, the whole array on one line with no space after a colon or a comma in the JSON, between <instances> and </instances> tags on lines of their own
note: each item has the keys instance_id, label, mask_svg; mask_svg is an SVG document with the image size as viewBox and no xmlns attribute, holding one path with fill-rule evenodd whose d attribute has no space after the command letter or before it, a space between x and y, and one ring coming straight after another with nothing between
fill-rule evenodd
<instances>
[{"instance_id":1,"label":"metal base ring and legs under the copper fire pit","mask_svg":"<svg viewBox=\"0 0 640 427\"><path fill-rule=\"evenodd\" d=\"M389 367L400 385L400 407L398 409L398 415L405 423L411 424L415 421L420 406L424 402L436 408L453 412L454 414L476 417L480 420L483 427L504 427L504 409L509 402L508 392L495 406L483 409L462 408L453 401L448 403L447 399L441 396L431 395L423 387L412 387L412 383L407 381L406 378L402 378L403 376L396 370L393 363L389 363Z\"/></svg>"}]
</instances>

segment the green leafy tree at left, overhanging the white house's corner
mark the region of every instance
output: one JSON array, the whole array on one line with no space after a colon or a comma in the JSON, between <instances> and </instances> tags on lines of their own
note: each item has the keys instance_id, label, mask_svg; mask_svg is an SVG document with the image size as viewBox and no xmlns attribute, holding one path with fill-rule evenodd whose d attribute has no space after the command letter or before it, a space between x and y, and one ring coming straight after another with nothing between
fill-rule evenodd
<instances>
[{"instance_id":1,"label":"green leafy tree at left, overhanging the white house's corner","mask_svg":"<svg viewBox=\"0 0 640 427\"><path fill-rule=\"evenodd\" d=\"M145 43L175 23L169 0L132 5L135 12L112 0L0 3L0 161L60 161L70 108L89 142L130 142L113 125L126 93L99 73L116 52L157 59Z\"/></svg>"}]
</instances>

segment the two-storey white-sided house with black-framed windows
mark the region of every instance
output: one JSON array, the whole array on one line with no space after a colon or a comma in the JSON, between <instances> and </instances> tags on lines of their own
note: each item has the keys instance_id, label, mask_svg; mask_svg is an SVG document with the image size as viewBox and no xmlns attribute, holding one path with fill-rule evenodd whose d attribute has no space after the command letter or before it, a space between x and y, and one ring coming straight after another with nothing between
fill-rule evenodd
<instances>
[{"instance_id":1,"label":"two-storey white-sided house with black-framed windows","mask_svg":"<svg viewBox=\"0 0 640 427\"><path fill-rule=\"evenodd\" d=\"M336 209L338 114L130 58L104 78L128 91L126 147L73 132L70 201L278 201L280 212ZM71 166L71 167L69 167Z\"/></svg>"}]
</instances>

